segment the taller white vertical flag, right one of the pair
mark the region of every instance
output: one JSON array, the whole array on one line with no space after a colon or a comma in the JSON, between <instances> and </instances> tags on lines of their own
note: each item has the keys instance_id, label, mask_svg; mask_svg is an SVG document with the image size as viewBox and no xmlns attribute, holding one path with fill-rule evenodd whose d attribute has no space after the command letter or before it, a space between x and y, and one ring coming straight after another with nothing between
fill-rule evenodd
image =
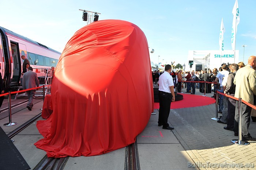
<instances>
[{"instance_id":1,"label":"taller white vertical flag, right one of the pair","mask_svg":"<svg viewBox=\"0 0 256 170\"><path fill-rule=\"evenodd\" d=\"M240 22L237 0L235 2L234 7L233 7L232 13L233 13L233 25L232 25L232 31L231 31L231 46L232 46L232 50L235 50L237 25Z\"/></svg>"}]
</instances>

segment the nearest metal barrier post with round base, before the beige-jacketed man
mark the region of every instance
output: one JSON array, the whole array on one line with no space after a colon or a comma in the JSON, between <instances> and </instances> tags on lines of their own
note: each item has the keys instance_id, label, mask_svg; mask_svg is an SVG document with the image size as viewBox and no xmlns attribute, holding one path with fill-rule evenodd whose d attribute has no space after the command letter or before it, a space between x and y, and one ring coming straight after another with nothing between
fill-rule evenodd
<instances>
[{"instance_id":1,"label":"nearest metal barrier post with round base, before the beige-jacketed man","mask_svg":"<svg viewBox=\"0 0 256 170\"><path fill-rule=\"evenodd\" d=\"M231 142L237 145L249 145L250 143L248 141L242 140L242 98L238 98L238 114L238 140L233 139Z\"/></svg>"}]
</instances>

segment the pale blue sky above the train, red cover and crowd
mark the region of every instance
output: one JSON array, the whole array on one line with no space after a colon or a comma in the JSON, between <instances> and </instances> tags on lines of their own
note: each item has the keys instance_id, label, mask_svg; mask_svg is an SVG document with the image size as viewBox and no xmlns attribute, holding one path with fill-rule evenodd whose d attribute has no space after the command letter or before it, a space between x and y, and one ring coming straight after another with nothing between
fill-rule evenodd
<instances>
[{"instance_id":1,"label":"pale blue sky above the train, red cover and crowd","mask_svg":"<svg viewBox=\"0 0 256 170\"><path fill-rule=\"evenodd\" d=\"M150 60L188 64L189 50L219 50L221 19L224 50L231 50L235 0L8 0L0 1L0 26L62 52L76 31L87 25L82 11L101 13L99 20L136 24L145 33ZM236 50L247 64L256 55L256 0L238 0L240 23ZM247 47L242 47L242 45ZM244 55L243 55L244 52ZM159 57L158 57L159 56Z\"/></svg>"}]
</instances>

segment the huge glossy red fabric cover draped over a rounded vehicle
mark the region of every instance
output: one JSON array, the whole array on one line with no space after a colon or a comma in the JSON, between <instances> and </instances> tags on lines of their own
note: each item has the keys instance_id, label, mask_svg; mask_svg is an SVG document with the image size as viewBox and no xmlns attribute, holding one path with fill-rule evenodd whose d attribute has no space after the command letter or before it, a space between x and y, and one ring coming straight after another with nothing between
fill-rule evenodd
<instances>
[{"instance_id":1,"label":"huge glossy red fabric cover draped over a rounded vehicle","mask_svg":"<svg viewBox=\"0 0 256 170\"><path fill-rule=\"evenodd\" d=\"M93 156L135 142L153 111L146 36L127 21L79 29L55 69L53 113L37 123L48 157Z\"/></svg>"}]
</instances>

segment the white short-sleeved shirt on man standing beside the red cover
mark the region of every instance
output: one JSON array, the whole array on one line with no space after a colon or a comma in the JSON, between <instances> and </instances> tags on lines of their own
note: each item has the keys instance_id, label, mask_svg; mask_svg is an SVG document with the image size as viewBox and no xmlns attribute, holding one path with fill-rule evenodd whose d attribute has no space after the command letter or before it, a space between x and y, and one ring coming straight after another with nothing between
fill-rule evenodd
<instances>
[{"instance_id":1,"label":"white short-sleeved shirt on man standing beside the red cover","mask_svg":"<svg viewBox=\"0 0 256 170\"><path fill-rule=\"evenodd\" d=\"M173 78L169 74L169 72L165 71L161 76L159 77L159 91L164 91L167 93L171 93L170 86L174 86L173 84Z\"/></svg>"}]
</instances>

